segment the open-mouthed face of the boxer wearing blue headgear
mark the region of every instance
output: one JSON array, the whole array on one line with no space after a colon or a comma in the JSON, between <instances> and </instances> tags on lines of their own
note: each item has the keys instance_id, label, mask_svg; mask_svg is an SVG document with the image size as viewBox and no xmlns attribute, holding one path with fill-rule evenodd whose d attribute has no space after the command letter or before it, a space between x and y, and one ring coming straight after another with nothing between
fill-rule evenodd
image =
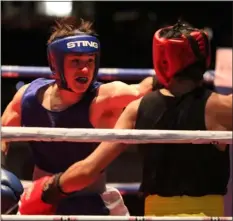
<instances>
[{"instance_id":1,"label":"open-mouthed face of the boxer wearing blue headgear","mask_svg":"<svg viewBox=\"0 0 233 221\"><path fill-rule=\"evenodd\" d=\"M95 55L67 55L64 60L65 77L69 88L76 92L85 92L93 78Z\"/></svg>"}]
</instances>

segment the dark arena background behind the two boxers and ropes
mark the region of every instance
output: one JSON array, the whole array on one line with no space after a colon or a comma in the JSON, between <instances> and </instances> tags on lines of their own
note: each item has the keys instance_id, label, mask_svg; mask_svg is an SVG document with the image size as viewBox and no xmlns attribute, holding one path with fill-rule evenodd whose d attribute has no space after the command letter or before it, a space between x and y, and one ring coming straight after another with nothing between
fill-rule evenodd
<instances>
[{"instance_id":1,"label":"dark arena background behind the two boxers and ropes","mask_svg":"<svg viewBox=\"0 0 233 221\"><path fill-rule=\"evenodd\" d=\"M1 2L2 65L48 65L46 42L55 18L38 15L37 4ZM197 28L212 30L211 69L215 67L216 48L232 47L232 2L73 2L73 15L94 21L101 42L101 67L152 68L154 32L174 24L178 18ZM31 80L2 79L2 112L16 92L16 83ZM21 179L30 179L33 162L27 145L12 143L12 146L15 148L10 151L10 168ZM134 151L123 154L110 167L108 181L139 181L139 162ZM142 213L142 201L137 199L137 203L132 203L134 198L125 198L134 215Z\"/></svg>"}]
</instances>

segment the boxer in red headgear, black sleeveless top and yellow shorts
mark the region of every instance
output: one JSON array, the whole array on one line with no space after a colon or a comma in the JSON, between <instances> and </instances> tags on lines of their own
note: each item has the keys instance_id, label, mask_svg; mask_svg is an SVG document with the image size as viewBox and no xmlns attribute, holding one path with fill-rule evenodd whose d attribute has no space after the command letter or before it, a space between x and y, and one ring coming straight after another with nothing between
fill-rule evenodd
<instances>
[{"instance_id":1,"label":"boxer in red headgear, black sleeveless top and yellow shorts","mask_svg":"<svg viewBox=\"0 0 233 221\"><path fill-rule=\"evenodd\" d=\"M232 130L232 94L205 88L209 65L207 35L185 23L156 32L153 58L164 86L131 102L116 129ZM229 179L227 144L141 144L145 215L223 216ZM95 180L128 145L102 142L85 160L75 163L58 181L65 192ZM53 189L53 188L51 188Z\"/></svg>"}]
</instances>

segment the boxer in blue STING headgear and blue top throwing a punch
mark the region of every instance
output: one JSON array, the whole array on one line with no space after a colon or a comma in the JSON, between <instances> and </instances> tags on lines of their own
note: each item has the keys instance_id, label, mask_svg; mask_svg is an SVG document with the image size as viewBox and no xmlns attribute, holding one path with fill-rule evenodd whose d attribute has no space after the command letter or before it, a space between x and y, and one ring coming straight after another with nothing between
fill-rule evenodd
<instances>
[{"instance_id":1,"label":"boxer in blue STING headgear and blue top throwing a punch","mask_svg":"<svg viewBox=\"0 0 233 221\"><path fill-rule=\"evenodd\" d=\"M69 19L57 23L48 41L54 79L39 78L20 88L3 113L3 126L112 128L128 103L151 90L152 84L145 87L144 81L138 85L96 81L100 43L90 27L88 22L75 24ZM128 215L119 191L106 187L104 171L94 184L77 193L63 193L55 200L43 194L47 184L62 193L59 174L91 154L96 143L30 144L36 181L21 199L21 214ZM6 143L2 150L7 153Z\"/></svg>"}]
</instances>

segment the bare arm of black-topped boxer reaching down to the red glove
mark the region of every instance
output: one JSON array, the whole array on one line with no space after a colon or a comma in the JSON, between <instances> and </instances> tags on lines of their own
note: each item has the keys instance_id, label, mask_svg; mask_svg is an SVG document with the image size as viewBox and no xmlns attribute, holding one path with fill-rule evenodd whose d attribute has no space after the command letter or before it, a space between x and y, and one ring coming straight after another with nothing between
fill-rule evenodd
<instances>
[{"instance_id":1,"label":"bare arm of black-topped boxer reaching down to the red glove","mask_svg":"<svg viewBox=\"0 0 233 221\"><path fill-rule=\"evenodd\" d=\"M130 103L118 119L115 129L133 129L136 122L140 99ZM60 186L64 192L78 191L92 183L127 144L102 142L98 148L83 161L73 164L60 178Z\"/></svg>"}]
</instances>

